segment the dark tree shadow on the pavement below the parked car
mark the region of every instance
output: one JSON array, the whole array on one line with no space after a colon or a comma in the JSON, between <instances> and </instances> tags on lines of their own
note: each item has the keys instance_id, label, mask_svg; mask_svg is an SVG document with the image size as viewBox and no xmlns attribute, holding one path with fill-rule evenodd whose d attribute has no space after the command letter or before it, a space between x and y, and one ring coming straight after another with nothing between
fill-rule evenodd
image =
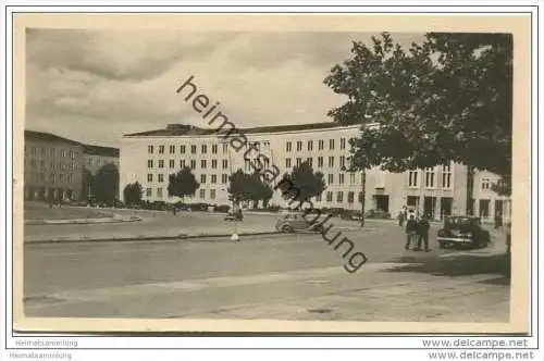
<instances>
[{"instance_id":1,"label":"dark tree shadow on the pavement below the parked car","mask_svg":"<svg viewBox=\"0 0 544 361\"><path fill-rule=\"evenodd\" d=\"M384 272L417 272L449 277L494 274L506 278L502 282L507 282L507 284L509 284L510 278L510 256L506 253L489 257L468 254L449 258L400 257L393 260L393 263L396 262L405 264ZM496 282L500 284L500 281Z\"/></svg>"}]
</instances>

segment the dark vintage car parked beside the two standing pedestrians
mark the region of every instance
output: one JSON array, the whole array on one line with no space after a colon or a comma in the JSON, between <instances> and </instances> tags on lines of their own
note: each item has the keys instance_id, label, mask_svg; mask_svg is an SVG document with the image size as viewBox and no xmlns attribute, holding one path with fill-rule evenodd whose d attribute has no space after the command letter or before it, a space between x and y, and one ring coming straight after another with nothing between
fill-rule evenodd
<instances>
[{"instance_id":1,"label":"dark vintage car parked beside the two standing pedestrians","mask_svg":"<svg viewBox=\"0 0 544 361\"><path fill-rule=\"evenodd\" d=\"M446 216L444 227L438 231L436 240L440 248L452 246L483 248L491 242L491 237L490 233L482 228L479 217Z\"/></svg>"}]
</instances>

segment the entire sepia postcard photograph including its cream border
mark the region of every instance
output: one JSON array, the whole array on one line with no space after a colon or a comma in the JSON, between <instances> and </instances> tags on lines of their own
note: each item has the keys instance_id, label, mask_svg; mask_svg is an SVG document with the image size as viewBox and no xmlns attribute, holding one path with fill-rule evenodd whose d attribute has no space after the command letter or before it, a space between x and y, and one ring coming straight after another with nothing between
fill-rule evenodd
<instances>
[{"instance_id":1,"label":"entire sepia postcard photograph including its cream border","mask_svg":"<svg viewBox=\"0 0 544 361\"><path fill-rule=\"evenodd\" d=\"M527 39L197 16L21 32L20 319L527 331Z\"/></svg>"}]
</instances>

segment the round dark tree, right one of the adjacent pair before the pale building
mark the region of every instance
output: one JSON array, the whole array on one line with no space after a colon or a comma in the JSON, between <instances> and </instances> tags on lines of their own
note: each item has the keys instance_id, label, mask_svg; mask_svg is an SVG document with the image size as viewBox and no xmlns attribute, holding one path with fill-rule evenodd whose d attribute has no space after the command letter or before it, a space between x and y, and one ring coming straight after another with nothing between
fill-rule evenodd
<instances>
[{"instance_id":1,"label":"round dark tree, right one of the adjacent pair before the pale building","mask_svg":"<svg viewBox=\"0 0 544 361\"><path fill-rule=\"evenodd\" d=\"M299 203L321 195L326 189L323 173L313 173L308 162L295 166L290 174L284 174L279 185L284 198Z\"/></svg>"}]
</instances>

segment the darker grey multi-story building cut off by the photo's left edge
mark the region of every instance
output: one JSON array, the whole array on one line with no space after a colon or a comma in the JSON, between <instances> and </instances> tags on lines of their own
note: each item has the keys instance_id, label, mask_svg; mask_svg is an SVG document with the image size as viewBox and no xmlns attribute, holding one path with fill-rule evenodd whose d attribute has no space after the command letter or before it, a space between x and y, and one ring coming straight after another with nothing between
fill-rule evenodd
<instances>
[{"instance_id":1,"label":"darker grey multi-story building cut off by the photo's left edge","mask_svg":"<svg viewBox=\"0 0 544 361\"><path fill-rule=\"evenodd\" d=\"M83 150L77 141L25 130L25 200L79 199Z\"/></svg>"}]
</instances>

